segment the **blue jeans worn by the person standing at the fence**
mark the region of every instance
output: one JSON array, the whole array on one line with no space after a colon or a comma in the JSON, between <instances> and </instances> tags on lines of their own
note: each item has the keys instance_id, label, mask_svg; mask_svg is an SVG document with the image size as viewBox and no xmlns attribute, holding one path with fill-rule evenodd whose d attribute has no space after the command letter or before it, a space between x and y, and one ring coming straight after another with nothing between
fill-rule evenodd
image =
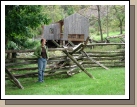
<instances>
[{"instance_id":1,"label":"blue jeans worn by the person standing at the fence","mask_svg":"<svg viewBox=\"0 0 137 107\"><path fill-rule=\"evenodd\" d=\"M44 81L44 71L46 68L47 60L44 58L38 58L38 81Z\"/></svg>"}]
</instances>

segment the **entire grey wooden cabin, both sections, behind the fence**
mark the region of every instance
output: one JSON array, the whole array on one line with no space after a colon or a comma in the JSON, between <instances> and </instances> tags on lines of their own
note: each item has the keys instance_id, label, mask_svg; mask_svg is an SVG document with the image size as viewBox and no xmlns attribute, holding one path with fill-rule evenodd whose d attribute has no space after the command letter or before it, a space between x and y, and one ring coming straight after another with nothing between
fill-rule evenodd
<instances>
[{"instance_id":1,"label":"entire grey wooden cabin, both sections, behind the fence","mask_svg":"<svg viewBox=\"0 0 137 107\"><path fill-rule=\"evenodd\" d=\"M54 46L52 40L60 45L66 45L69 40L77 45L89 36L89 20L75 13L56 23L44 25L43 31L43 37L49 47Z\"/></svg>"}]
</instances>

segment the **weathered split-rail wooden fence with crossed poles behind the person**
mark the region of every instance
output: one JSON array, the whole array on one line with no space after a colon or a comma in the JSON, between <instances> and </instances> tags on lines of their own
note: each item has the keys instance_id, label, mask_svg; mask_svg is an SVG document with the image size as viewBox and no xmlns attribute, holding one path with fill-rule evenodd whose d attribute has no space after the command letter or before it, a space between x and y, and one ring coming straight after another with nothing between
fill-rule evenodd
<instances>
[{"instance_id":1,"label":"weathered split-rail wooden fence with crossed poles behind the person","mask_svg":"<svg viewBox=\"0 0 137 107\"><path fill-rule=\"evenodd\" d=\"M103 67L108 69L107 67L124 67L125 66L125 51L93 51L93 52L85 52L85 47L90 46L107 46L107 45L125 45L124 43L98 43L92 45L81 44L77 47L71 48L49 48L49 51L63 51L66 55L62 56L53 56L50 57L47 62L45 76L72 76L74 74L80 73L84 71L89 76L91 76L85 68L92 67ZM83 48L83 47L84 48ZM81 50L80 52L78 52ZM34 52L34 50L5 50L5 53L30 53ZM89 60L90 59L90 60ZM36 66L25 66L25 65L33 65ZM21 67L21 66L22 67ZM20 67L18 67L20 66ZM24 67L25 66L25 67ZM5 79L13 79L13 83L16 84L19 88L23 89L23 86L17 80L17 78L28 78L37 76L37 58L9 58L5 59L5 68L6 68L6 77ZM24 74L16 74L16 72L23 71ZM29 72L28 72L29 71ZM31 71L31 72L30 72ZM14 72L12 74L12 72ZM91 76L92 77L92 76Z\"/></svg>"}]
</instances>

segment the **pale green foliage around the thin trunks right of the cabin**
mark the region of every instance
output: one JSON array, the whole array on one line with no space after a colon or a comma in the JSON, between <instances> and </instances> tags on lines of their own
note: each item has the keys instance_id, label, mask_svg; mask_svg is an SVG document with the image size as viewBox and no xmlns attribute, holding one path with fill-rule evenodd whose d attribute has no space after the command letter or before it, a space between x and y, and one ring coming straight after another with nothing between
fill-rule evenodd
<instances>
[{"instance_id":1,"label":"pale green foliage around the thin trunks right of the cabin","mask_svg":"<svg viewBox=\"0 0 137 107\"><path fill-rule=\"evenodd\" d=\"M98 20L97 14L95 14L97 13L97 10L96 8L94 8L93 10L91 8L91 11L93 12L93 14L91 14L89 18L89 22L90 22L90 27L94 28L95 31L94 32L92 31L90 33L91 35L96 35L98 38L98 34L99 34L98 26L99 25L97 21ZM120 31L121 26L122 26L122 30L123 31L125 30L125 7L124 5L115 5L115 6L102 5L100 8L100 14L101 14L101 26L102 26L103 37L105 36L105 33L107 33L107 28L108 28L108 32L110 35L111 35L111 32ZM120 33L118 32L118 34Z\"/></svg>"}]
</instances>

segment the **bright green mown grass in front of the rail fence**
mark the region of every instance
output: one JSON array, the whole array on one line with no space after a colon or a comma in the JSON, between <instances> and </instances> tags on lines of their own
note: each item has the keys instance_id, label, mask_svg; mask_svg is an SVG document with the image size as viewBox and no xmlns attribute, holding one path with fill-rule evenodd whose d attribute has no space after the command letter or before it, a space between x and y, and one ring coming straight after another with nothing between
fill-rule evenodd
<instances>
[{"instance_id":1,"label":"bright green mown grass in front of the rail fence","mask_svg":"<svg viewBox=\"0 0 137 107\"><path fill-rule=\"evenodd\" d=\"M46 78L43 83L36 83L37 78L19 79L25 89L21 90L6 80L6 95L124 95L125 68L103 68L87 71L95 79L84 72L69 78Z\"/></svg>"}]
</instances>

